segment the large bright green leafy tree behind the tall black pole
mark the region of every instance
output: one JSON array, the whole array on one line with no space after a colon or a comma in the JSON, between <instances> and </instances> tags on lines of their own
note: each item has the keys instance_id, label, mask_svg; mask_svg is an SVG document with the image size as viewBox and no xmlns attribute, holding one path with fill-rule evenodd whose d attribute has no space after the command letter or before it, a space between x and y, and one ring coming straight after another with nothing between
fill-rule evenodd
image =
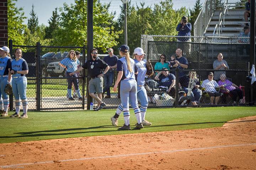
<instances>
[{"instance_id":1,"label":"large bright green leafy tree behind the tall black pole","mask_svg":"<svg viewBox=\"0 0 256 170\"><path fill-rule=\"evenodd\" d=\"M53 32L53 43L60 46L83 46L87 44L87 0L75 0L75 4L63 4L60 8L59 28ZM108 5L93 2L94 47L106 51L117 45L121 31L115 31L110 21L114 16Z\"/></svg>"}]
</instances>

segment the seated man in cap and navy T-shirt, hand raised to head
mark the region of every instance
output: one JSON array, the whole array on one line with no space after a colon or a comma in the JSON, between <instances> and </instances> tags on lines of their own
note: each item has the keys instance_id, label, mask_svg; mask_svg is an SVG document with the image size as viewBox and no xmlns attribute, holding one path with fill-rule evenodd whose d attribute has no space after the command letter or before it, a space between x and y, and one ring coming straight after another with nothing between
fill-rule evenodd
<instances>
[{"instance_id":1,"label":"seated man in cap and navy T-shirt, hand raised to head","mask_svg":"<svg viewBox=\"0 0 256 170\"><path fill-rule=\"evenodd\" d=\"M162 68L162 71L155 76L155 80L160 81L161 86L168 87L169 94L175 95L175 76L169 73L167 68Z\"/></svg>"}]
</instances>

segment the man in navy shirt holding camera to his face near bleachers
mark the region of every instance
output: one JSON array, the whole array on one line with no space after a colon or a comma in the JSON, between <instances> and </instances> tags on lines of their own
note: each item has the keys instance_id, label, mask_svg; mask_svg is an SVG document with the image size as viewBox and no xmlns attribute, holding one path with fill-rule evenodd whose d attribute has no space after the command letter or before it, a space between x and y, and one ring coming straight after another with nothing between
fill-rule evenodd
<instances>
[{"instance_id":1,"label":"man in navy shirt holding camera to his face near bleachers","mask_svg":"<svg viewBox=\"0 0 256 170\"><path fill-rule=\"evenodd\" d=\"M188 18L186 16L183 16L181 18L181 22L176 27L176 31L178 31L178 36L184 36L184 38L183 37L177 38L177 42L180 42L180 43L177 43L177 49L178 48L182 49L184 55L188 55L191 52L191 44L190 44L191 33L190 32L191 32L192 26L191 26L191 23L187 21L188 21ZM185 43L185 42L188 42L188 43Z\"/></svg>"}]
</instances>

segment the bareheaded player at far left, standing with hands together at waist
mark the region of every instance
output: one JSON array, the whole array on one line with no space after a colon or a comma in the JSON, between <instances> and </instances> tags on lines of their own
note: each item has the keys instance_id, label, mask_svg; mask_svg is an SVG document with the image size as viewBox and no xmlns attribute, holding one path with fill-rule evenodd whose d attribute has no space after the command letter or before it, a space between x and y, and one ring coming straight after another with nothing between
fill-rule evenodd
<instances>
[{"instance_id":1,"label":"bareheaded player at far left, standing with hands together at waist","mask_svg":"<svg viewBox=\"0 0 256 170\"><path fill-rule=\"evenodd\" d=\"M23 114L20 116L20 118L27 118L27 77L25 75L28 73L28 65L27 62L22 59L22 50L20 48L17 48L14 51L14 54L16 58L11 62L10 73L12 74L12 92L15 98L15 114L11 115L10 117L20 116L20 106L22 102Z\"/></svg>"}]
</instances>

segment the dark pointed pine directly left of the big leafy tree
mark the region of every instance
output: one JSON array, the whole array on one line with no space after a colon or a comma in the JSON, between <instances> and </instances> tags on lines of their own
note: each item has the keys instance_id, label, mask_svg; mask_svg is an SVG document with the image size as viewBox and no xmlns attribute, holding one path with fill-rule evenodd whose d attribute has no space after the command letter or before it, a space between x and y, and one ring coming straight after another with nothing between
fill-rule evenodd
<instances>
[{"instance_id":1,"label":"dark pointed pine directly left of the big leafy tree","mask_svg":"<svg viewBox=\"0 0 256 170\"><path fill-rule=\"evenodd\" d=\"M53 11L52 17L48 20L49 26L46 27L45 37L46 39L51 39L53 37L52 33L55 29L59 27L59 15L57 8Z\"/></svg>"}]
</instances>

